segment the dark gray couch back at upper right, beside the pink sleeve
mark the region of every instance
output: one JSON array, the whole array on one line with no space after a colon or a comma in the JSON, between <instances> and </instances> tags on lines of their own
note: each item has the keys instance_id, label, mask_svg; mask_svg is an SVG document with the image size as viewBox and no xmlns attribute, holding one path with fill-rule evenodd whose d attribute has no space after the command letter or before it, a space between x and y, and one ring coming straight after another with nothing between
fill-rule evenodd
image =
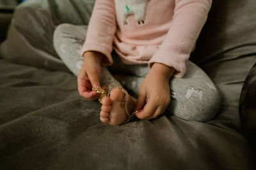
<instances>
[{"instance_id":1,"label":"dark gray couch back at upper right, beside the pink sleeve","mask_svg":"<svg viewBox=\"0 0 256 170\"><path fill-rule=\"evenodd\" d=\"M196 63L232 60L256 53L256 1L213 0L196 43Z\"/></svg>"}]
</instances>

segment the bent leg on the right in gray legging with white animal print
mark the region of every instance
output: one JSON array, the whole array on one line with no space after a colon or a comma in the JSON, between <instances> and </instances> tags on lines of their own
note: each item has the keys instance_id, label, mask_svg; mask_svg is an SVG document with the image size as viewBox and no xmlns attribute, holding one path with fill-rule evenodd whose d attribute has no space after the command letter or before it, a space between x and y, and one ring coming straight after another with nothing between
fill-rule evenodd
<instances>
[{"instance_id":1,"label":"bent leg on the right in gray legging with white animal print","mask_svg":"<svg viewBox=\"0 0 256 170\"><path fill-rule=\"evenodd\" d=\"M209 76L193 62L187 62L183 78L170 80L170 89L173 99L168 110L176 117L207 122L218 113L220 94Z\"/></svg>"}]
</instances>

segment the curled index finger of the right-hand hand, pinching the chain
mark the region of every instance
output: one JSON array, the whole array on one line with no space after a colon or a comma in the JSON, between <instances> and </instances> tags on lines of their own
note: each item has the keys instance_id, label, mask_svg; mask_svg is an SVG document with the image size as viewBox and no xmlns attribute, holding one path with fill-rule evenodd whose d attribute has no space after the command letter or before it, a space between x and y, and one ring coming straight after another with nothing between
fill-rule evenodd
<instances>
[{"instance_id":1,"label":"curled index finger of the right-hand hand, pinching the chain","mask_svg":"<svg viewBox=\"0 0 256 170\"><path fill-rule=\"evenodd\" d=\"M147 119L151 117L157 109L157 105L153 101L148 100L148 103L144 106L143 110L136 113L136 117L140 119Z\"/></svg>"}]
</instances>

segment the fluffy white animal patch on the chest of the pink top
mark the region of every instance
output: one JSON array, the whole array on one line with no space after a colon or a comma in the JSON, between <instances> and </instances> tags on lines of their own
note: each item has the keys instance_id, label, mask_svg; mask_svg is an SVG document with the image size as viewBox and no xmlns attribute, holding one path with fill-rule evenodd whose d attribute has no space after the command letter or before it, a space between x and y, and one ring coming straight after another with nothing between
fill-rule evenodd
<instances>
[{"instance_id":1,"label":"fluffy white animal patch on the chest of the pink top","mask_svg":"<svg viewBox=\"0 0 256 170\"><path fill-rule=\"evenodd\" d=\"M129 15L134 15L138 24L144 24L147 4L150 0L115 0L116 12L122 18L124 25Z\"/></svg>"}]
</instances>

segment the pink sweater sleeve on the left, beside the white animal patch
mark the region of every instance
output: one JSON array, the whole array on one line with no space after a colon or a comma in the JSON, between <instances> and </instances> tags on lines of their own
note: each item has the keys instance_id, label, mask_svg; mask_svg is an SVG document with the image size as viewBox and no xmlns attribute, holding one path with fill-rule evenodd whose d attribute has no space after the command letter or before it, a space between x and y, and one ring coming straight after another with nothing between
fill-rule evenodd
<instances>
[{"instance_id":1,"label":"pink sweater sleeve on the left, beside the white animal patch","mask_svg":"<svg viewBox=\"0 0 256 170\"><path fill-rule=\"evenodd\" d=\"M104 61L102 65L111 65L113 63L111 52L115 32L115 1L96 0L82 52L96 51L103 53L108 60Z\"/></svg>"}]
</instances>

